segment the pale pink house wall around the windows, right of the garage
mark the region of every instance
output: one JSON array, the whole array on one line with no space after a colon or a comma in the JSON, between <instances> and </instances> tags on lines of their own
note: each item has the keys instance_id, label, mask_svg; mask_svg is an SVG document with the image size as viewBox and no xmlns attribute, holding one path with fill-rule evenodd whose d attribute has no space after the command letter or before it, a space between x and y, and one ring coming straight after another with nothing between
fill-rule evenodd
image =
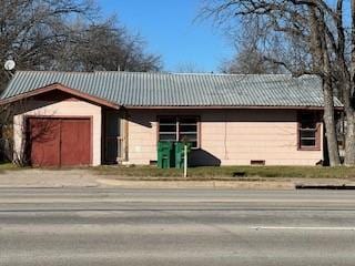
<instances>
[{"instance_id":1,"label":"pale pink house wall around the windows, right of the garage","mask_svg":"<svg viewBox=\"0 0 355 266\"><path fill-rule=\"evenodd\" d=\"M201 151L192 154L195 164L250 165L264 160L266 165L315 165L323 158L322 149L297 150L294 110L131 110L129 163L156 160L156 116L170 114L201 117Z\"/></svg>"}]
</instances>

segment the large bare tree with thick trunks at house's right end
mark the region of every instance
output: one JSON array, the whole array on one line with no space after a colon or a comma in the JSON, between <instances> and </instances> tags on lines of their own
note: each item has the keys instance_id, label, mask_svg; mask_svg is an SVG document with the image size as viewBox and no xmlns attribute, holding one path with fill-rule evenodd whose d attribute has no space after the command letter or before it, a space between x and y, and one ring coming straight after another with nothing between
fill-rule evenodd
<instances>
[{"instance_id":1,"label":"large bare tree with thick trunks at house's right end","mask_svg":"<svg viewBox=\"0 0 355 266\"><path fill-rule=\"evenodd\" d=\"M334 99L339 92L346 114L345 164L355 164L355 1L352 23L344 25L344 0L214 0L206 1L203 14L217 21L256 20L263 29L258 44L265 50L267 40L282 40L287 57L264 57L298 76L316 74L323 81L324 124L331 165L341 163L335 131ZM221 23L222 23L221 22ZM351 32L347 29L352 29ZM349 43L347 42L349 40ZM349 55L347 44L351 44Z\"/></svg>"}]
</instances>

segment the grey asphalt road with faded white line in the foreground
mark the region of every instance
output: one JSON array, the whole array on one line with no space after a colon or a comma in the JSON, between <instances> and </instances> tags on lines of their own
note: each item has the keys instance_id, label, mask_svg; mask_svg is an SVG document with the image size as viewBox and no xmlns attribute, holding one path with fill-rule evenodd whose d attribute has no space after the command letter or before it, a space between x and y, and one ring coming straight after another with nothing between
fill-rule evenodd
<instances>
[{"instance_id":1,"label":"grey asphalt road with faded white line in the foreground","mask_svg":"<svg viewBox=\"0 0 355 266\"><path fill-rule=\"evenodd\" d=\"M0 188L0 265L355 265L352 191Z\"/></svg>"}]
</instances>

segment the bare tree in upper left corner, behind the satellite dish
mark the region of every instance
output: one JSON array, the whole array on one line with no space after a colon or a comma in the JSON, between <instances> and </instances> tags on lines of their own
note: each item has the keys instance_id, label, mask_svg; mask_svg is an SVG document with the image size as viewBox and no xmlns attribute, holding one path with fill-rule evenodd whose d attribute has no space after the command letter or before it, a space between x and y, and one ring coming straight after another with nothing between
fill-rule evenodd
<instances>
[{"instance_id":1,"label":"bare tree in upper left corner, behind the satellite dish","mask_svg":"<svg viewBox=\"0 0 355 266\"><path fill-rule=\"evenodd\" d=\"M93 6L84 0L0 0L1 61L13 59L19 69L47 69L68 38L65 21L92 13ZM1 69L1 85L6 81Z\"/></svg>"}]
</instances>

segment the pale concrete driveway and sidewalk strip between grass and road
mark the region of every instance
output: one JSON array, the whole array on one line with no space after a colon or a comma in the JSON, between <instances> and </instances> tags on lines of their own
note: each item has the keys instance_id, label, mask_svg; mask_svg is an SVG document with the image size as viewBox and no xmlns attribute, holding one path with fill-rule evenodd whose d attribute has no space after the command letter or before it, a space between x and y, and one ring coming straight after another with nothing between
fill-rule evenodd
<instances>
[{"instance_id":1,"label":"pale concrete driveway and sidewalk strip between grass and road","mask_svg":"<svg viewBox=\"0 0 355 266\"><path fill-rule=\"evenodd\" d=\"M0 174L2 187L122 187L122 188L230 188L230 190L295 190L303 186L355 186L345 178L261 177L235 180L172 180L156 177L118 177L98 175L91 170L20 170Z\"/></svg>"}]
</instances>

